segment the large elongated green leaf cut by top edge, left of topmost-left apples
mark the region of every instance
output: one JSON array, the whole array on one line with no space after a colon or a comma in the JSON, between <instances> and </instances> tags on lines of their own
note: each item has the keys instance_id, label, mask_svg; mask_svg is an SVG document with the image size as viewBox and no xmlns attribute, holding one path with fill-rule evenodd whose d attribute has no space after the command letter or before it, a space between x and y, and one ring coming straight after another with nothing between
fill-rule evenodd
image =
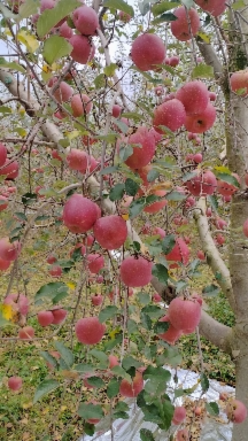
<instances>
[{"instance_id":1,"label":"large elongated green leaf cut by top edge, left of topmost-left apples","mask_svg":"<svg viewBox=\"0 0 248 441\"><path fill-rule=\"evenodd\" d=\"M67 17L76 7L82 4L78 0L59 0L55 7L46 9L40 15L37 21L37 34L39 37L44 37L48 32L56 27L56 24Z\"/></svg>"}]
</instances>

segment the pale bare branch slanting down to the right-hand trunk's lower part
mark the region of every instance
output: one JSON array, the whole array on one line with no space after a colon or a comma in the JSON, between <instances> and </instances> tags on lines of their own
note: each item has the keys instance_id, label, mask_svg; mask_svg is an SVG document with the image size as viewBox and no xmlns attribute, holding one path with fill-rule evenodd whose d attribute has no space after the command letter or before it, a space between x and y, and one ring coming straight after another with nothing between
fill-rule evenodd
<instances>
[{"instance_id":1,"label":"pale bare branch slanting down to the right-hand trunk's lower part","mask_svg":"<svg viewBox=\"0 0 248 441\"><path fill-rule=\"evenodd\" d=\"M196 220L201 244L207 256L208 265L210 266L214 274L218 273L220 275L220 277L218 278L218 284L221 287L224 294L226 295L226 297L228 298L230 306L232 307L233 311L235 311L236 304L233 297L233 288L232 288L230 273L225 263L223 262L222 257L218 252L218 249L215 246L214 240L208 229L207 217L204 216L203 214L205 213L205 211L206 211L205 198L200 198L194 212L194 217Z\"/></svg>"}]
</instances>

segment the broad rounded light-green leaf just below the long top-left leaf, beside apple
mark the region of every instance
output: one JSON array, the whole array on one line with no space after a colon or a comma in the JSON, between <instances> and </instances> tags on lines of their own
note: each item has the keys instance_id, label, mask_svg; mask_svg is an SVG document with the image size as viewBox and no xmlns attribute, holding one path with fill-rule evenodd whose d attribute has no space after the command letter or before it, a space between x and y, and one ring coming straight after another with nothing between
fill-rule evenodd
<instances>
[{"instance_id":1,"label":"broad rounded light-green leaf just below the long top-left leaf, beside apple","mask_svg":"<svg viewBox=\"0 0 248 441\"><path fill-rule=\"evenodd\" d=\"M49 9L49 11L51 11ZM67 56L72 51L73 46L64 37L51 35L44 42L43 57L48 64L54 63L63 56Z\"/></svg>"}]
</instances>

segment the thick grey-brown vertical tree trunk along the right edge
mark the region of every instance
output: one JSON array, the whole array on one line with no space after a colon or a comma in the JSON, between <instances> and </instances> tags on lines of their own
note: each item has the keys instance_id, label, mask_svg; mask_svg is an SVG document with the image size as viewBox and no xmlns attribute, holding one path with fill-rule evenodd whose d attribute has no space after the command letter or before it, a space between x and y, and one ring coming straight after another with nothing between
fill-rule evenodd
<instances>
[{"instance_id":1,"label":"thick grey-brown vertical tree trunk along the right edge","mask_svg":"<svg viewBox=\"0 0 248 441\"><path fill-rule=\"evenodd\" d=\"M229 70L239 71L247 66L248 0L246 10L229 13ZM242 19L244 17L244 20ZM244 174L248 169L248 99L226 94L227 159L230 170L241 177L241 191L233 197L230 219L229 269L235 299L236 325L233 329L233 355L236 360L236 397L248 408L248 243L242 227L248 219L248 194L244 190ZM242 190L243 189L243 190ZM237 230L239 228L239 230ZM233 441L248 439L248 419L234 424Z\"/></svg>"}]
</instances>

